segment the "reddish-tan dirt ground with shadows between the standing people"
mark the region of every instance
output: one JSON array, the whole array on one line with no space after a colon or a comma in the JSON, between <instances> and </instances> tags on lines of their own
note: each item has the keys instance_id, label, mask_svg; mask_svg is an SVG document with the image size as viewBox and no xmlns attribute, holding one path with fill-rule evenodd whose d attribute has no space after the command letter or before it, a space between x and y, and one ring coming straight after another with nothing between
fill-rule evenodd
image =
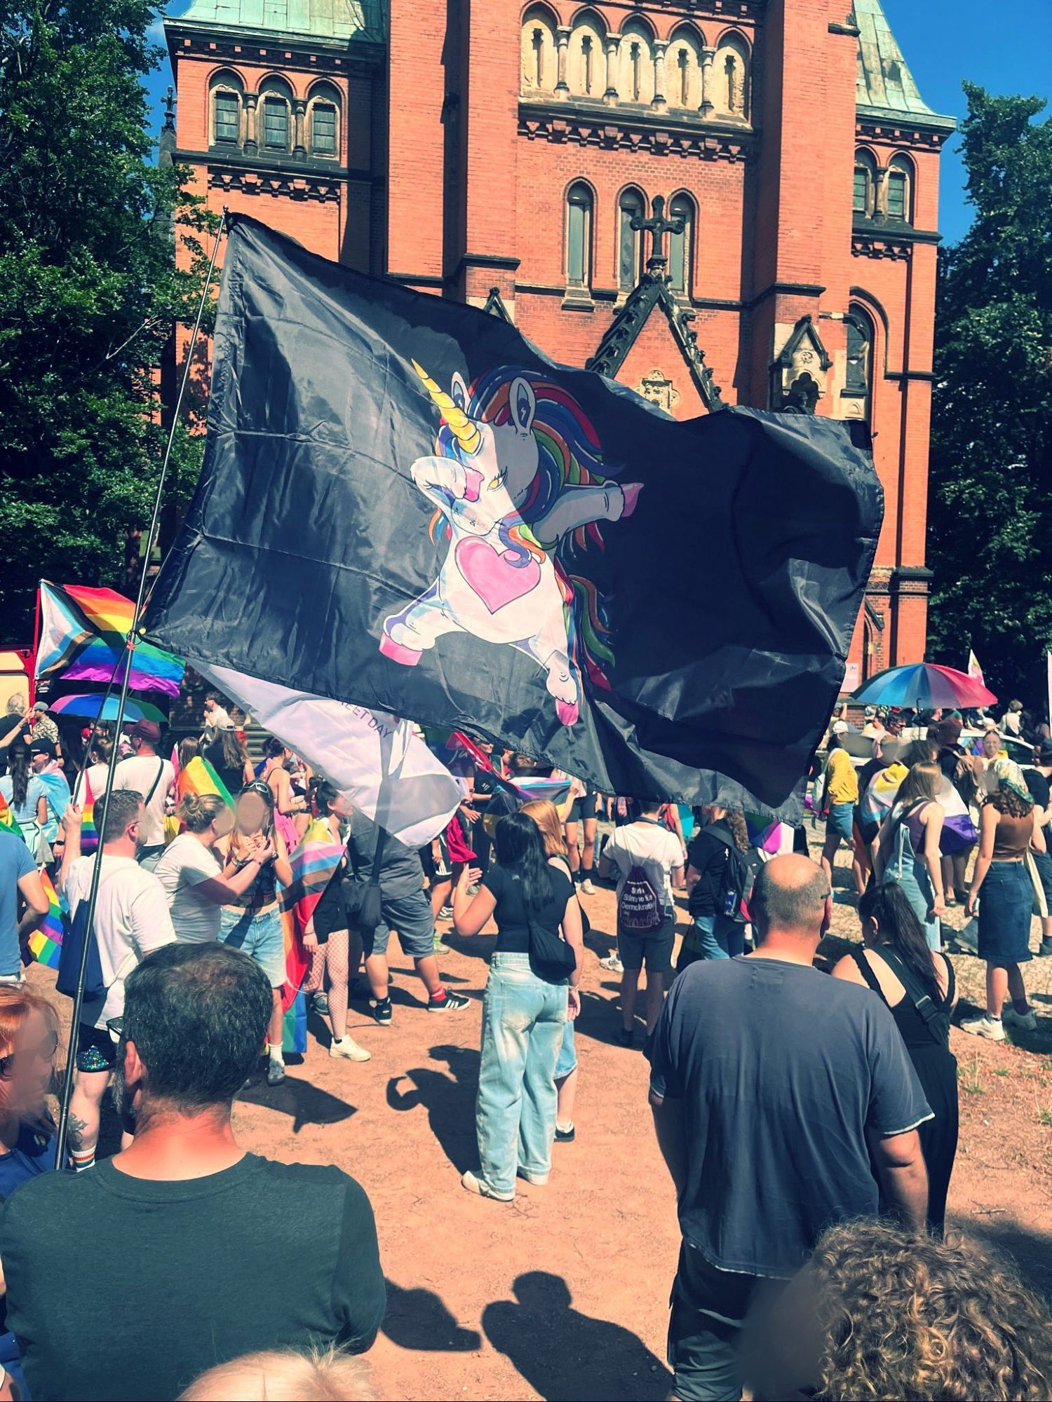
<instances>
[{"instance_id":1,"label":"reddish-tan dirt ground with shadows between the standing people","mask_svg":"<svg viewBox=\"0 0 1052 1402\"><path fill-rule=\"evenodd\" d=\"M846 865L836 885L829 955L858 937ZM369 1357L383 1398L642 1402L668 1392L675 1196L651 1130L647 1063L638 1047L613 1043L619 984L596 958L612 948L613 894L585 900L593 931L578 1022L578 1137L555 1145L546 1187L520 1183L509 1206L460 1187L463 1169L477 1166L487 937L446 937L453 952L442 967L449 986L471 998L464 1012L428 1014L411 962L393 945L393 1028L379 1028L362 1002L349 1018L373 1060L330 1059L327 1025L313 1019L307 1054L299 1064L289 1059L285 1085L259 1081L237 1102L236 1130L247 1148L338 1164L372 1199L389 1309ZM685 918L680 911L680 927ZM951 924L961 923L952 911ZM983 966L968 955L955 966L966 1012L968 998L982 998ZM32 977L53 979L39 969ZM1038 1033L1003 1046L951 1033L961 1145L950 1221L1013 1253L1052 1294L1052 959L1031 963L1027 979Z\"/></svg>"}]
</instances>

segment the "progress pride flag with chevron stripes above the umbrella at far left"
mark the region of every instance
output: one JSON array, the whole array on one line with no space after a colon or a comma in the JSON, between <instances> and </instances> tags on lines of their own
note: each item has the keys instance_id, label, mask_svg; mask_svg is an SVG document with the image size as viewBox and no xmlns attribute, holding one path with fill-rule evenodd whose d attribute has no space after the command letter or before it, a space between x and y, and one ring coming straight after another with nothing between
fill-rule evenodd
<instances>
[{"instance_id":1,"label":"progress pride flag with chevron stripes above the umbrella at far left","mask_svg":"<svg viewBox=\"0 0 1052 1402\"><path fill-rule=\"evenodd\" d=\"M135 604L114 589L84 585L39 587L39 637L36 679L62 673L79 681L111 681L128 656L126 638ZM161 691L178 695L185 667L178 658L150 644L137 644L132 656L129 686L133 691Z\"/></svg>"}]
</instances>

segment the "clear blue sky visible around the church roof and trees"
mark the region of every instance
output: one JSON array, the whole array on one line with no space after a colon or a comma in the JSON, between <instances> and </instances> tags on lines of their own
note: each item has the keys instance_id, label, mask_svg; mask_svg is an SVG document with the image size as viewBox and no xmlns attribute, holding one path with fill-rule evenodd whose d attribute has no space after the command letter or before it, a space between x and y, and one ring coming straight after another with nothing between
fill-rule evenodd
<instances>
[{"instance_id":1,"label":"clear blue sky visible around the church roof and trees","mask_svg":"<svg viewBox=\"0 0 1052 1402\"><path fill-rule=\"evenodd\" d=\"M189 0L173 0L168 14L182 14L188 6ZM996 11L989 0L884 0L884 13L920 95L937 112L964 116L965 79L992 93L1052 97L1052 0L1016 0ZM161 42L160 22L154 36ZM149 81L154 133L160 130L161 101L170 83L166 59L164 70ZM947 243L955 243L971 222L959 144L959 137L952 136L943 149L940 227Z\"/></svg>"}]
</instances>

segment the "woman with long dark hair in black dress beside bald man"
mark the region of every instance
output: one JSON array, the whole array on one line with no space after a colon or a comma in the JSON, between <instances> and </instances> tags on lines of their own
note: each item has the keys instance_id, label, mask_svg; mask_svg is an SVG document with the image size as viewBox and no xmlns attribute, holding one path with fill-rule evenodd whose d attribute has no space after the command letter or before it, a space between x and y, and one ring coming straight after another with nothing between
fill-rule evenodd
<instances>
[{"instance_id":1,"label":"woman with long dark hair in black dress beside bald man","mask_svg":"<svg viewBox=\"0 0 1052 1402\"><path fill-rule=\"evenodd\" d=\"M941 1237L957 1154L957 1057L950 1016L957 1004L954 966L929 949L924 927L896 883L871 885L858 900L864 949L837 963L835 979L872 988L891 1008L934 1119L919 1126L927 1165L929 1230Z\"/></svg>"}]
</instances>

